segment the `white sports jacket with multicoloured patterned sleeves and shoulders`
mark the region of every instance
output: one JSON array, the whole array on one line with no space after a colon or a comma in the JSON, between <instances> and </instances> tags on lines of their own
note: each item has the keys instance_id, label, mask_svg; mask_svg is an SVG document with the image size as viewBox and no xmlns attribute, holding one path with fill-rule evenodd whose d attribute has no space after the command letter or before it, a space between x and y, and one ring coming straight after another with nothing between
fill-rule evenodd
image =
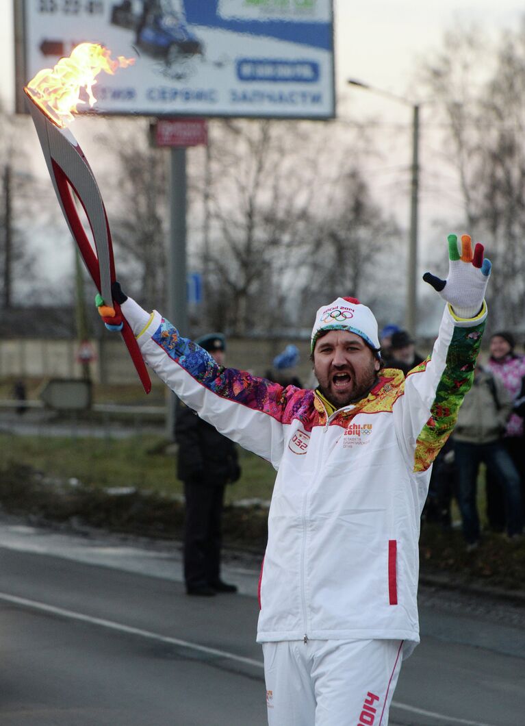
<instances>
[{"instance_id":1,"label":"white sports jacket with multicoloured patterned sleeves and shoulders","mask_svg":"<svg viewBox=\"0 0 525 726\"><path fill-rule=\"evenodd\" d=\"M122 307L137 335L144 311L131 300ZM152 313L137 335L146 363L278 470L259 642L392 638L405 640L405 657L419 642L421 510L431 463L471 387L486 311L458 320L447 307L429 359L406 379L381 371L365 399L330 417L314 391L218 367Z\"/></svg>"}]
</instances>

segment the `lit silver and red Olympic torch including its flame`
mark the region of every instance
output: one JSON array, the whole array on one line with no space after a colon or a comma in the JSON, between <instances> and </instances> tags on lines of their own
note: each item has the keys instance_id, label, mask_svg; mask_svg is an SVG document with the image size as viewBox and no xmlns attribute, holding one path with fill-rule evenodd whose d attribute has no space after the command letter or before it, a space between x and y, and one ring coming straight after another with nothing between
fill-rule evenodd
<instances>
[{"instance_id":1,"label":"lit silver and red Olympic torch including its flame","mask_svg":"<svg viewBox=\"0 0 525 726\"><path fill-rule=\"evenodd\" d=\"M112 74L117 68L125 68L134 62L133 58L112 60L110 56L111 52L99 44L80 44L73 49L70 57L59 60L54 68L37 73L24 91L67 225L104 304L115 312L115 322L123 322L121 333L125 345L144 391L149 393L152 384L133 330L123 318L118 303L112 301L115 261L104 202L88 160L75 136L67 129L78 104L84 103L81 94L86 94L89 105L94 105L96 99L92 86L100 71ZM78 216L75 197L86 213L94 245L91 245Z\"/></svg>"}]
</instances>

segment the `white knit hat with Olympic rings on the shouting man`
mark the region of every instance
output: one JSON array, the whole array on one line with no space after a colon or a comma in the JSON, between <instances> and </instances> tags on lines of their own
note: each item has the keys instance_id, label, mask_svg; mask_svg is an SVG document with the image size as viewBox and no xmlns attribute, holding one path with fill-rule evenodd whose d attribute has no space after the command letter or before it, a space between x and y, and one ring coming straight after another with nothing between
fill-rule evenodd
<instances>
[{"instance_id":1,"label":"white knit hat with Olympic rings on the shouting man","mask_svg":"<svg viewBox=\"0 0 525 726\"><path fill-rule=\"evenodd\" d=\"M355 298L337 298L333 303L318 309L312 330L312 352L323 330L347 330L359 335L374 350L379 348L377 320L371 309Z\"/></svg>"}]
</instances>

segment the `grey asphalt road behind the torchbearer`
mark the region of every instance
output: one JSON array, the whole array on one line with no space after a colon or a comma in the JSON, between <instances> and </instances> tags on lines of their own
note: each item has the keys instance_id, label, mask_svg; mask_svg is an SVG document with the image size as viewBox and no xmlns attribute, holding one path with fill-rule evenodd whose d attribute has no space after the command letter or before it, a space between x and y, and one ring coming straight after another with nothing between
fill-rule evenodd
<instances>
[{"instance_id":1,"label":"grey asphalt road behind the torchbearer","mask_svg":"<svg viewBox=\"0 0 525 726\"><path fill-rule=\"evenodd\" d=\"M249 558L225 568L242 594L190 598L173 544L7 519L0 563L2 726L265 725ZM420 600L391 726L524 726L524 608Z\"/></svg>"}]
</instances>

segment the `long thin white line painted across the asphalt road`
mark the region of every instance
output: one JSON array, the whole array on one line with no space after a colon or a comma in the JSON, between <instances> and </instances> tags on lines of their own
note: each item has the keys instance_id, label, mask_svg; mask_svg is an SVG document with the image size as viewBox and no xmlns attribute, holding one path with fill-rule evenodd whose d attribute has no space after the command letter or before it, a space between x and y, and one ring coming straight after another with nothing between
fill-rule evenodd
<instances>
[{"instance_id":1,"label":"long thin white line painted across the asphalt road","mask_svg":"<svg viewBox=\"0 0 525 726\"><path fill-rule=\"evenodd\" d=\"M116 630L117 632L128 633L128 635L138 635L139 637L147 638L147 640L156 640L157 643L168 643L168 645L178 645L181 648L188 648L189 650L197 650L198 653L206 653L208 656L216 656L218 658L227 658L230 661L236 661L237 663L243 663L248 666L255 666L256 668L263 669L264 664L262 661L256 661L254 658L245 658L244 656L236 656L235 653L230 653L228 650L218 650L217 648L207 648L206 645L199 645L198 643L190 643L189 640L180 640L176 637L169 637L167 635L160 635L149 630L143 630L141 628L133 628L123 623L116 623L112 620L104 620L102 618L94 618L90 615L84 615L83 613L76 613L72 610L65 610L64 608L56 608L54 605L47 605L46 603L40 603L38 600L27 600L25 597L17 597L16 595L8 595L7 592L0 592L0 600L4 600L6 603L13 603L14 605L22 605L22 607L30 608L31 610L38 610L44 613L51 613L51 615L59 615L63 618L70 620L77 620L83 623L89 623L91 625L98 625L99 627L107 628L109 630ZM392 701L391 704L396 709L402 711L410 711L413 714L419 714L420 716L429 716L435 719L442 719L447 726L458 724L460 726L495 726L494 724L481 723L480 721L468 721L466 719L457 719L452 716L445 716L438 714L435 711L425 711L423 709L417 709L415 706L408 706L406 703L399 703L398 701Z\"/></svg>"}]
</instances>

